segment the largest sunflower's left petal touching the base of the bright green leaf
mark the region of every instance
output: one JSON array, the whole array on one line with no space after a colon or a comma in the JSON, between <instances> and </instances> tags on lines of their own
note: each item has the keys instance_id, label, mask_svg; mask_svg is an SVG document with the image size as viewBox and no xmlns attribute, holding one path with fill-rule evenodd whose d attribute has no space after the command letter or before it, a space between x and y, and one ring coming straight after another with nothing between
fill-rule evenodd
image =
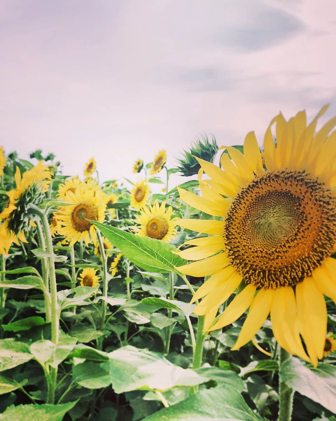
<instances>
[{"instance_id":1,"label":"largest sunflower's left petal touching the base of the bright green leaf","mask_svg":"<svg viewBox=\"0 0 336 421\"><path fill-rule=\"evenodd\" d=\"M230 261L228 260L226 254L220 253L216 254L216 256L208 257L201 261L185 264L183 266L177 266L176 269L186 275L201 277L212 275L213 273L218 272L220 269L223 269L229 264Z\"/></svg>"}]
</instances>

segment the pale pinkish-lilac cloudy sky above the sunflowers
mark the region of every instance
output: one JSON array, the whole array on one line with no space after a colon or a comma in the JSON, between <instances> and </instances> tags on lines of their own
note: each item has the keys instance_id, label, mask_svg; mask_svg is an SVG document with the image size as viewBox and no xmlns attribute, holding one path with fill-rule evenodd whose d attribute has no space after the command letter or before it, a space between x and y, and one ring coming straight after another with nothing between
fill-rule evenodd
<instances>
[{"instance_id":1,"label":"pale pinkish-lilac cloudy sky above the sunflowers","mask_svg":"<svg viewBox=\"0 0 336 421\"><path fill-rule=\"evenodd\" d=\"M0 145L100 180L200 134L262 144L272 117L336 115L334 0L1 0ZM173 181L181 183L182 177Z\"/></svg>"}]
</instances>

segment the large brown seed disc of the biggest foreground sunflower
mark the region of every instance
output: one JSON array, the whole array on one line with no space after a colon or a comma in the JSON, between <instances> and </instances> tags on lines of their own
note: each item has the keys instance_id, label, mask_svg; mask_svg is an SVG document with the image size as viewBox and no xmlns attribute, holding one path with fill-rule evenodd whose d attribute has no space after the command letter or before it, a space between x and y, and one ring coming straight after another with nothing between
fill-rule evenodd
<instances>
[{"instance_id":1,"label":"large brown seed disc of the biggest foreground sunflower","mask_svg":"<svg viewBox=\"0 0 336 421\"><path fill-rule=\"evenodd\" d=\"M332 253L336 200L304 171L267 172L234 197L225 217L226 252L259 288L296 285Z\"/></svg>"}]
</instances>

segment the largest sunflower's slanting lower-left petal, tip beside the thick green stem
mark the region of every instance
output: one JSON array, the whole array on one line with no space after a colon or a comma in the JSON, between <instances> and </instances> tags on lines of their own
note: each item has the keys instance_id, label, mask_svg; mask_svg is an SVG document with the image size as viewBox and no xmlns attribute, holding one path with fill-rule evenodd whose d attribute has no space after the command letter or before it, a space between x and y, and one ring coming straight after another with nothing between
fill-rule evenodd
<instances>
[{"instance_id":1,"label":"largest sunflower's slanting lower-left petal, tip beside the thick green stem","mask_svg":"<svg viewBox=\"0 0 336 421\"><path fill-rule=\"evenodd\" d=\"M210 330L223 328L237 320L251 304L256 289L252 284L247 285L226 307L218 322Z\"/></svg>"}]
</instances>

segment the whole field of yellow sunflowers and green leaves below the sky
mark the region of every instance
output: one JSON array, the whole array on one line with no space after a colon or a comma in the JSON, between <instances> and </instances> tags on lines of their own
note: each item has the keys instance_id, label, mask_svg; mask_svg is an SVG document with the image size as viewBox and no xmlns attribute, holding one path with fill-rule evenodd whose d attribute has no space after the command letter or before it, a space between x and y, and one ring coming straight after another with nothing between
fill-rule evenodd
<instances>
[{"instance_id":1,"label":"whole field of yellow sunflowers and green leaves below the sky","mask_svg":"<svg viewBox=\"0 0 336 421\"><path fill-rule=\"evenodd\" d=\"M1 147L0 421L336 421L326 108L130 180Z\"/></svg>"}]
</instances>

